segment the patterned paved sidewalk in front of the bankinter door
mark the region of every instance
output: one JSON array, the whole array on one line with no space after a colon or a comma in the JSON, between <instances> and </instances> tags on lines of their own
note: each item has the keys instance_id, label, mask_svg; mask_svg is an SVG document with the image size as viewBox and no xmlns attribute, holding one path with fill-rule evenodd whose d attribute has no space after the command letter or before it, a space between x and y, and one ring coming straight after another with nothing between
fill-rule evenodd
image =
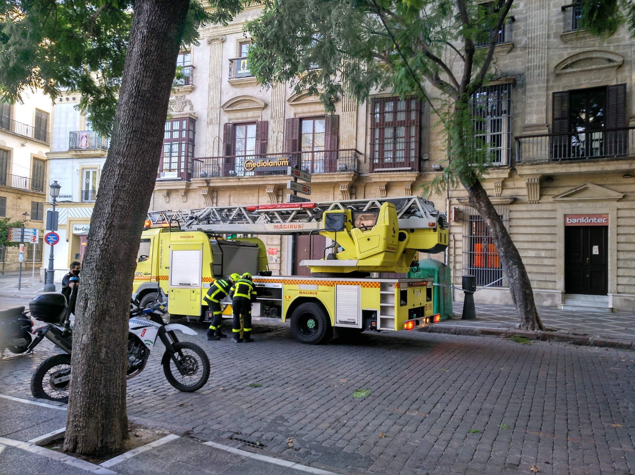
<instances>
[{"instance_id":1,"label":"patterned paved sidewalk in front of the bankinter door","mask_svg":"<svg viewBox=\"0 0 635 475\"><path fill-rule=\"evenodd\" d=\"M474 320L461 320L462 302L452 302L456 314L452 323L471 324ZM476 322L515 326L518 312L514 305L476 304ZM610 312L578 312L538 307L542 323L549 328L572 331L586 335L601 335L608 338L635 340L635 314Z\"/></svg>"}]
</instances>

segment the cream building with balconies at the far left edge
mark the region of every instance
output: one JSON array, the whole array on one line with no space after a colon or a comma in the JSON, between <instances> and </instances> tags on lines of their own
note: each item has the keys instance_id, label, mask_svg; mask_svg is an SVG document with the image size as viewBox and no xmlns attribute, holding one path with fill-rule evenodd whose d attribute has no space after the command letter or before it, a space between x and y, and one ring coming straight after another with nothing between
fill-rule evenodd
<instances>
[{"instance_id":1,"label":"cream building with balconies at the far left edge","mask_svg":"<svg viewBox=\"0 0 635 475\"><path fill-rule=\"evenodd\" d=\"M39 241L24 250L22 270L31 270L42 261L53 106L41 91L25 91L22 99L22 103L0 104L0 218L23 221L25 227L40 231ZM0 246L0 272L18 269L18 253L17 247Z\"/></svg>"}]
</instances>

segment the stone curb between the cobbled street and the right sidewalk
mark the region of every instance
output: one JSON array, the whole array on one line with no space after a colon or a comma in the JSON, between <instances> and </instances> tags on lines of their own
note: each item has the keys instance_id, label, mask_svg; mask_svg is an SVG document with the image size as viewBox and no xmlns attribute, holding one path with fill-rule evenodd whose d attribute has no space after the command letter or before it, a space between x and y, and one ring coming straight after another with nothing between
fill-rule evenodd
<instances>
[{"instance_id":1,"label":"stone curb between the cobbled street and the right sidewalk","mask_svg":"<svg viewBox=\"0 0 635 475\"><path fill-rule=\"evenodd\" d=\"M592 337L589 335L577 335L568 331L526 331L507 328L480 328L478 326L455 326L435 324L421 328L425 333L445 333L446 335L466 335L469 337L500 337L509 338L520 335L528 340L540 340L543 342L563 342L578 346L596 346L617 348L620 350L635 350L635 342L631 340L618 340L617 338Z\"/></svg>"}]
</instances>

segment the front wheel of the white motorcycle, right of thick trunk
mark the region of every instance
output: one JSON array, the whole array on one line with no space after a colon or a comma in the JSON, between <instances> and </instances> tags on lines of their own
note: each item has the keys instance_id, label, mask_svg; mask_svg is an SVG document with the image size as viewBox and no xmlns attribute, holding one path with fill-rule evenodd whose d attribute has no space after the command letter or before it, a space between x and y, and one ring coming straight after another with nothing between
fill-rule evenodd
<instances>
[{"instance_id":1,"label":"front wheel of the white motorcycle, right of thick trunk","mask_svg":"<svg viewBox=\"0 0 635 475\"><path fill-rule=\"evenodd\" d=\"M210 360L203 349L190 342L177 342L172 346L176 350L175 356L182 372L175 365L170 351L166 350L161 365L168 382L178 391L193 392L201 389L210 377Z\"/></svg>"}]
</instances>

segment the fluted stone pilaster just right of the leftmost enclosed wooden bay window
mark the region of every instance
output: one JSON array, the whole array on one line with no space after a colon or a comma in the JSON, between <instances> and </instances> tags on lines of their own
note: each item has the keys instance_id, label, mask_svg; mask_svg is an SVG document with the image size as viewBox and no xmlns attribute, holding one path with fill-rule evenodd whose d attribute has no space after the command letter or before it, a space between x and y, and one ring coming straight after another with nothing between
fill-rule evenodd
<instances>
[{"instance_id":1,"label":"fluted stone pilaster just right of the leftmost enclosed wooden bay window","mask_svg":"<svg viewBox=\"0 0 635 475\"><path fill-rule=\"evenodd\" d=\"M208 76L207 94L207 129L205 140L205 155L218 157L221 155L223 138L220 131L220 74L223 61L224 36L208 37L210 45L210 74Z\"/></svg>"}]
</instances>

